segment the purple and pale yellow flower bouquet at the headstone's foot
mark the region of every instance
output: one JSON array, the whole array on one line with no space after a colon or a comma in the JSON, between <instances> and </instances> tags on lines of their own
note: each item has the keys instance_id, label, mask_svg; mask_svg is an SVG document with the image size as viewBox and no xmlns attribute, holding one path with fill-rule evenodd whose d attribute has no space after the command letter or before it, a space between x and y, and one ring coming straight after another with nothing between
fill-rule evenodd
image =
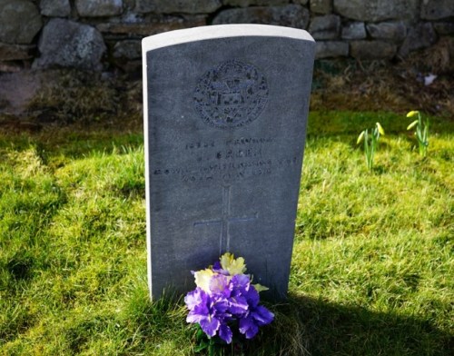
<instances>
[{"instance_id":1,"label":"purple and pale yellow flower bouquet at the headstone's foot","mask_svg":"<svg viewBox=\"0 0 454 356\"><path fill-rule=\"evenodd\" d=\"M269 324L274 315L260 305L259 292L268 288L252 284L245 274L244 259L224 253L219 262L205 270L192 272L197 288L184 298L189 309L186 321L199 325L199 351L214 344L230 344L233 338L252 339L259 327ZM238 333L239 332L239 333ZM202 342L206 335L209 342Z\"/></svg>"}]
</instances>

